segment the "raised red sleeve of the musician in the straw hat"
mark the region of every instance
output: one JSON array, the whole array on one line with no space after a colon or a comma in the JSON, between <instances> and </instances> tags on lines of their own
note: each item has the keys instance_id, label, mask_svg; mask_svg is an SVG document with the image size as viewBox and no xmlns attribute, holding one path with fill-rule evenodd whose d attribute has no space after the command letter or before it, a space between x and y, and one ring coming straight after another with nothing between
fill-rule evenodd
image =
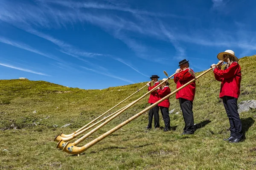
<instances>
[{"instance_id":1,"label":"raised red sleeve of the musician in the straw hat","mask_svg":"<svg viewBox=\"0 0 256 170\"><path fill-rule=\"evenodd\" d=\"M237 62L230 65L226 70L214 69L214 74L222 79L229 79L230 77L234 77L236 75L237 69L239 68L239 64Z\"/></svg>"}]
</instances>

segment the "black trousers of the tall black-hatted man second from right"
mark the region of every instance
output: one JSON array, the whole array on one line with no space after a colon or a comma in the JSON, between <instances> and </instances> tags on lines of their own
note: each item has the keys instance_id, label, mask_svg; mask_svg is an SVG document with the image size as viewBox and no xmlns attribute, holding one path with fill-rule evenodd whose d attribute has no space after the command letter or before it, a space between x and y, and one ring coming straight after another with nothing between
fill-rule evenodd
<instances>
[{"instance_id":1,"label":"black trousers of the tall black-hatted man second from right","mask_svg":"<svg viewBox=\"0 0 256 170\"><path fill-rule=\"evenodd\" d=\"M193 102L187 99L179 98L180 100L180 108L182 111L183 119L185 122L185 127L183 129L186 133L194 133L195 125L194 125L194 116L193 116Z\"/></svg>"}]
</instances>

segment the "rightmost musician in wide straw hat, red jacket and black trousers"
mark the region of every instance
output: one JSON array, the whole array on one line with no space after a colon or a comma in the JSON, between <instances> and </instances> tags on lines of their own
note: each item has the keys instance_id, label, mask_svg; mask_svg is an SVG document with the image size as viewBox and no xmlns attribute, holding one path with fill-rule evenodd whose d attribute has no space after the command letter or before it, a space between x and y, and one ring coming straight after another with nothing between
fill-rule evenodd
<instances>
[{"instance_id":1,"label":"rightmost musician in wide straw hat, red jacket and black trousers","mask_svg":"<svg viewBox=\"0 0 256 170\"><path fill-rule=\"evenodd\" d=\"M221 82L221 90L219 97L223 100L224 108L227 113L227 117L230 122L230 137L224 139L230 143L241 142L243 137L242 123L237 111L237 99L240 94L240 82L241 82L241 68L238 64L238 58L235 56L234 51L226 50L221 52L217 56L220 65L216 67L212 64L214 77ZM221 65L227 62L224 70L221 70Z\"/></svg>"}]
</instances>

